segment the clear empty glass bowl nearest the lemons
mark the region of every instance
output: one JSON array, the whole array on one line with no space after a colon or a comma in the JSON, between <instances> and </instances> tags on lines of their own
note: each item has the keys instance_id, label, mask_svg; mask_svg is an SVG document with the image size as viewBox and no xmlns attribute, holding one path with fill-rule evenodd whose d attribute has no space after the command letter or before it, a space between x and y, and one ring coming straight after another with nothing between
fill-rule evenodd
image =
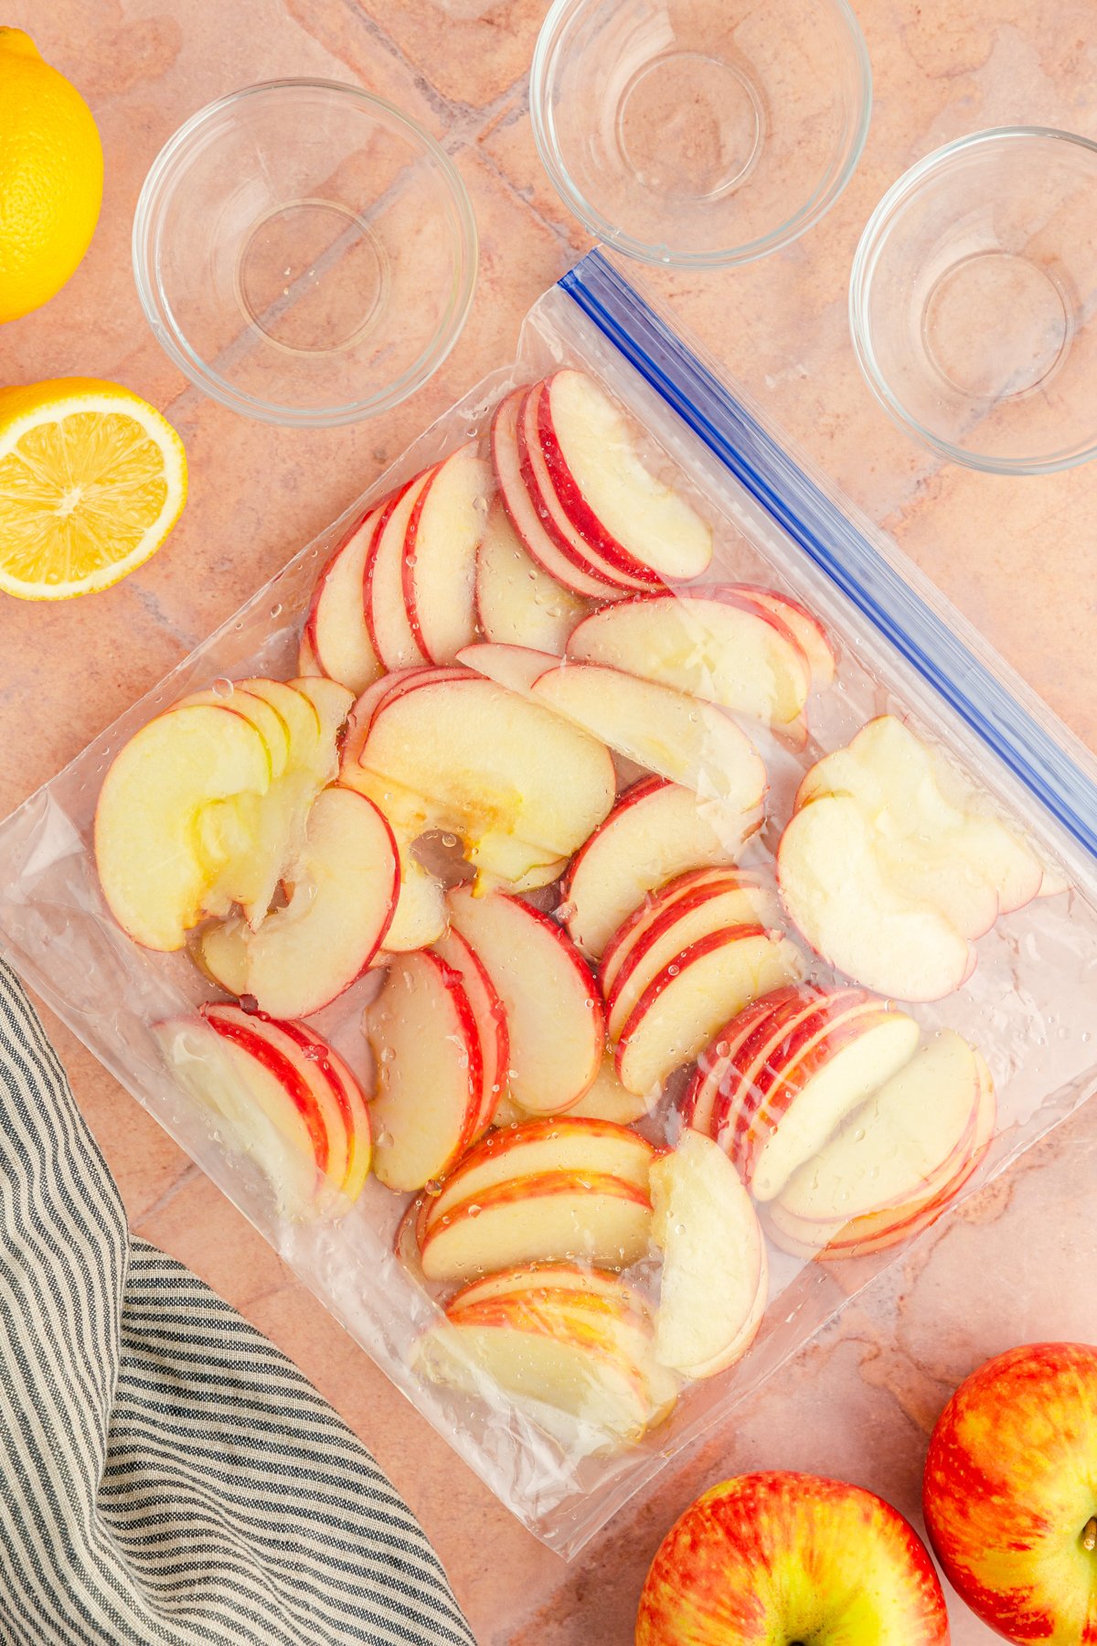
<instances>
[{"instance_id":1,"label":"clear empty glass bowl nearest the lemons","mask_svg":"<svg viewBox=\"0 0 1097 1646\"><path fill-rule=\"evenodd\" d=\"M268 423L355 423L452 349L475 283L449 156L354 86L273 81L168 140L133 219L156 337L214 400Z\"/></svg>"}]
</instances>

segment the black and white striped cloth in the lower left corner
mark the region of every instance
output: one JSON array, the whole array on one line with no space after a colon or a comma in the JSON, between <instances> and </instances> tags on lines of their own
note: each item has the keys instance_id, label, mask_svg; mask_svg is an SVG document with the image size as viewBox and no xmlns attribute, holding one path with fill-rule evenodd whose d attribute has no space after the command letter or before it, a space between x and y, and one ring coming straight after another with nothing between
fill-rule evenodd
<instances>
[{"instance_id":1,"label":"black and white striped cloth in the lower left corner","mask_svg":"<svg viewBox=\"0 0 1097 1646\"><path fill-rule=\"evenodd\" d=\"M118 1192L0 966L0 1643L475 1646L408 1508Z\"/></svg>"}]
</instances>

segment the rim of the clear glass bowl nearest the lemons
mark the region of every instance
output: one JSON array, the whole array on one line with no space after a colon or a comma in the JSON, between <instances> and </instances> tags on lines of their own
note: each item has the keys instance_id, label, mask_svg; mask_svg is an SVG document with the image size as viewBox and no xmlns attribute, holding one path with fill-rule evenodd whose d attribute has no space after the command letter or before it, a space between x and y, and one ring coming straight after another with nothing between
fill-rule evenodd
<instances>
[{"instance_id":1,"label":"rim of the clear glass bowl nearest the lemons","mask_svg":"<svg viewBox=\"0 0 1097 1646\"><path fill-rule=\"evenodd\" d=\"M194 148L196 138L201 138L202 132L225 112L250 99L278 97L280 94L296 91L331 94L332 100L357 104L360 109L365 109L373 115L380 115L385 123L403 128L406 137L411 140L413 148L418 148L419 153L424 155L437 170L454 207L457 227L457 280L454 281L454 293L446 306L442 323L437 326L434 336L421 351L419 357L411 367L408 367L406 372L401 374L401 377L395 379L368 398L329 407L293 407L281 402L262 400L257 395L250 395L245 390L234 387L220 377L220 374L217 374L212 365L189 346L186 336L174 323L171 305L160 278L158 253L163 211L173 196L176 179ZM418 120L405 114L403 109L388 102L388 99L378 97L377 92L365 91L362 86L350 86L345 81L327 81L312 76L258 81L255 86L243 86L234 92L227 92L224 97L215 97L212 102L204 104L201 109L196 109L194 114L187 115L187 119L166 138L145 174L133 212L130 245L133 281L137 285L137 295L141 303L145 319L148 321L148 326L151 328L151 332L160 346L179 367L184 377L194 384L196 388L201 388L212 400L229 407L232 412L238 412L243 416L255 418L262 423L275 423L289 428L337 428L349 423L359 423L368 416L377 416L382 412L391 410L395 405L400 405L401 400L406 400L408 395L414 393L416 388L421 388L452 351L464 329L469 308L472 306L479 262L479 232L472 199L469 198L469 189L465 188L461 173L441 143L431 137L431 133L426 132Z\"/></svg>"}]
</instances>

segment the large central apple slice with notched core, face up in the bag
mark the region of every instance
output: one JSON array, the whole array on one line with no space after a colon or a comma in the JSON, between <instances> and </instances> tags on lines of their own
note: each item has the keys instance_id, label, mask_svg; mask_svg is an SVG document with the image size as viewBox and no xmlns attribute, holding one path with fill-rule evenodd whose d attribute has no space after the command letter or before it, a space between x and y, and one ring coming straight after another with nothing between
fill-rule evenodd
<instances>
[{"instance_id":1,"label":"large central apple slice with notched core, face up in the bag","mask_svg":"<svg viewBox=\"0 0 1097 1646\"><path fill-rule=\"evenodd\" d=\"M518 843L528 866L569 856L613 805L605 746L490 680L446 680L383 701L360 765L419 795L428 828L459 835L477 867L490 872L492 848L505 846L511 879Z\"/></svg>"}]
</instances>

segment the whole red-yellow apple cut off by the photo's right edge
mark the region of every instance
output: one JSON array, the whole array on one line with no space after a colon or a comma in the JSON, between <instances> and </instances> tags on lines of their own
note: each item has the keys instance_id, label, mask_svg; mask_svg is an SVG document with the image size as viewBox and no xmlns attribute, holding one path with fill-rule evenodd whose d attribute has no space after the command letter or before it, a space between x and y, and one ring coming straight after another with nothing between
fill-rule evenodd
<instances>
[{"instance_id":1,"label":"whole red-yellow apple cut off by the photo's right edge","mask_svg":"<svg viewBox=\"0 0 1097 1646\"><path fill-rule=\"evenodd\" d=\"M1097 1348L1030 1343L959 1386L929 1442L929 1537L949 1582L1016 1646L1097 1641Z\"/></svg>"}]
</instances>

